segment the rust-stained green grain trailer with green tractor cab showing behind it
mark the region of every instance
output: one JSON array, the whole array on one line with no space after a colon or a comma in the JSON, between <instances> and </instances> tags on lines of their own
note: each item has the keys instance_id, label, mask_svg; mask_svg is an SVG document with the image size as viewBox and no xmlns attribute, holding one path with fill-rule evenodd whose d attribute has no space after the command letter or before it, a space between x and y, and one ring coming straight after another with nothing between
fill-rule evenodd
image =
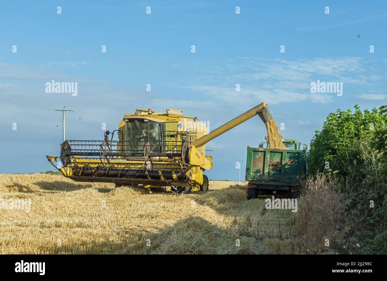
<instances>
[{"instance_id":1,"label":"rust-stained green grain trailer with green tractor cab showing behind it","mask_svg":"<svg viewBox=\"0 0 387 281\"><path fill-rule=\"evenodd\" d=\"M275 194L296 197L300 181L305 178L307 145L300 149L297 140L282 140L288 149L247 147L247 197Z\"/></svg>"}]
</instances>

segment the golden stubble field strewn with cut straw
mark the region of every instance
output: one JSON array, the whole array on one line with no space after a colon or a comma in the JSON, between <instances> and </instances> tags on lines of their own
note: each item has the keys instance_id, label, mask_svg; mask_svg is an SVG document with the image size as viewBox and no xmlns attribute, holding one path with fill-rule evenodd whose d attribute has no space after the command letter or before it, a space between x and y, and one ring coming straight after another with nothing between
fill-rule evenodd
<instances>
[{"instance_id":1,"label":"golden stubble field strewn with cut straw","mask_svg":"<svg viewBox=\"0 0 387 281\"><path fill-rule=\"evenodd\" d=\"M307 253L291 210L247 200L246 183L211 181L189 195L47 174L0 174L0 253Z\"/></svg>"}]
</instances>

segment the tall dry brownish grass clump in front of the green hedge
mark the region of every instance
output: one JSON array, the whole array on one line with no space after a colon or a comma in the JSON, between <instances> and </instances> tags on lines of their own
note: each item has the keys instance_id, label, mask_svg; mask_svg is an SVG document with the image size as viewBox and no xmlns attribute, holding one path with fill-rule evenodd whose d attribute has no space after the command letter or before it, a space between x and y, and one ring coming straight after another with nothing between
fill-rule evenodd
<instances>
[{"instance_id":1,"label":"tall dry brownish grass clump in front of the green hedge","mask_svg":"<svg viewBox=\"0 0 387 281\"><path fill-rule=\"evenodd\" d=\"M345 247L342 243L348 231L348 203L336 180L318 174L305 181L295 222L298 236L308 252L336 253L337 249Z\"/></svg>"}]
</instances>

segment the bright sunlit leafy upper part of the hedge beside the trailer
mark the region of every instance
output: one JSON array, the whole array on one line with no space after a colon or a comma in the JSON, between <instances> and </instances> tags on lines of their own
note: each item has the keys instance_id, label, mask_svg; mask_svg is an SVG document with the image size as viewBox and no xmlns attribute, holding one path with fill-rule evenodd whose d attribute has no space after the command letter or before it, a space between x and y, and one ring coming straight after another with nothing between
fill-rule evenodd
<instances>
[{"instance_id":1,"label":"bright sunlit leafy upper part of the hedge beside the trailer","mask_svg":"<svg viewBox=\"0 0 387 281\"><path fill-rule=\"evenodd\" d=\"M338 109L336 113L330 113L322 130L315 132L307 155L310 174L325 172L338 177L354 177L354 180L364 176L366 163L360 147L370 145L376 134L382 137L387 114L375 108L372 111L366 109L364 113L358 105L354 108L354 112ZM383 145L382 142L378 143Z\"/></svg>"}]
</instances>

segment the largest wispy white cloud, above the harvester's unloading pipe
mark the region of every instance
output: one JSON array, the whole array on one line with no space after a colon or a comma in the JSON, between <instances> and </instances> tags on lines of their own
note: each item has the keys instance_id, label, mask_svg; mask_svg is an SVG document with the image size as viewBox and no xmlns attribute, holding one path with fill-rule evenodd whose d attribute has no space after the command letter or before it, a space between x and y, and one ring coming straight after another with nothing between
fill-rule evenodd
<instances>
[{"instance_id":1,"label":"largest wispy white cloud, above the harvester's unloading pipe","mask_svg":"<svg viewBox=\"0 0 387 281\"><path fill-rule=\"evenodd\" d=\"M186 82L190 90L204 93L219 104L245 105L255 101L272 104L311 101L329 103L333 95L310 93L310 83L320 81L343 82L348 86L370 86L380 75L367 72L368 62L359 57L315 58L284 60L237 58L226 64L198 64L202 76ZM240 91L235 85L240 84Z\"/></svg>"}]
</instances>

